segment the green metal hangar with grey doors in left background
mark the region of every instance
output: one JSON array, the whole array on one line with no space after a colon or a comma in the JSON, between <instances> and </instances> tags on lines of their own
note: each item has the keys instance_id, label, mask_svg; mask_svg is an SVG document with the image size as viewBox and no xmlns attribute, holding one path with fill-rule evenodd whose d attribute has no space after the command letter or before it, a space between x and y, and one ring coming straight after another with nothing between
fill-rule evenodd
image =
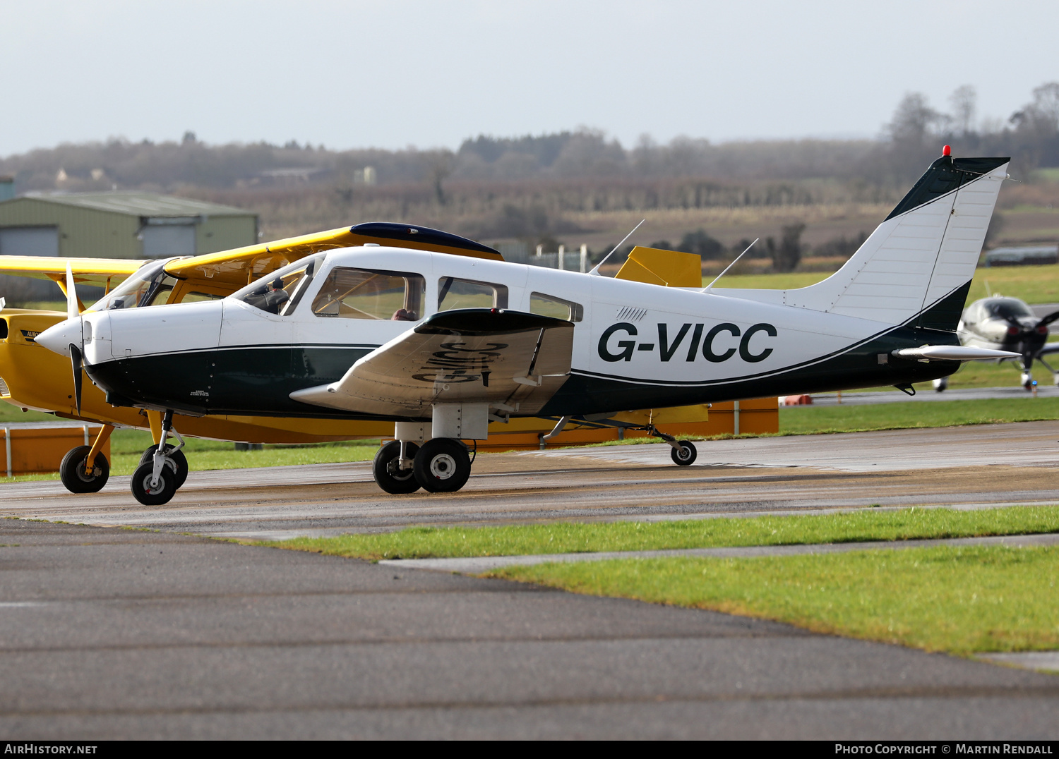
<instances>
[{"instance_id":1,"label":"green metal hangar with grey doors in left background","mask_svg":"<svg viewBox=\"0 0 1059 759\"><path fill-rule=\"evenodd\" d=\"M256 214L189 198L112 192L0 202L0 255L163 258L256 241Z\"/></svg>"}]
</instances>

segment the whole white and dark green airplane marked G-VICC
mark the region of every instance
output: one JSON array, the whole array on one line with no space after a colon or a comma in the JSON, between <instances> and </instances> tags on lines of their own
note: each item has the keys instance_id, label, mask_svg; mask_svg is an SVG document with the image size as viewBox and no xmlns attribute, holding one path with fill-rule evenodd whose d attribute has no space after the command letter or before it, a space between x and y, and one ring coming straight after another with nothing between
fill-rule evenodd
<instances>
[{"instance_id":1,"label":"whole white and dark green airplane marked G-VICC","mask_svg":"<svg viewBox=\"0 0 1059 759\"><path fill-rule=\"evenodd\" d=\"M666 288L381 246L307 256L220 300L78 314L37 342L114 405L392 420L375 481L459 490L490 419L605 421L667 408L913 382L1008 351L961 346L1006 158L935 161L838 272L793 290ZM118 304L112 304L116 306ZM650 430L653 432L653 430ZM680 465L695 447L662 433ZM132 475L166 503L164 445Z\"/></svg>"}]
</instances>

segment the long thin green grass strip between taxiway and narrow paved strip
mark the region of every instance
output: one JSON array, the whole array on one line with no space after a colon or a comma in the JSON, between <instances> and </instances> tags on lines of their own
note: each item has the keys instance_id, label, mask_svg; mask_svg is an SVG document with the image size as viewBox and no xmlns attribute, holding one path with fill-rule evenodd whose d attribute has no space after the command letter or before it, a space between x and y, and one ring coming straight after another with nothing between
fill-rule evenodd
<instances>
[{"instance_id":1,"label":"long thin green grass strip between taxiway and narrow paved strip","mask_svg":"<svg viewBox=\"0 0 1059 759\"><path fill-rule=\"evenodd\" d=\"M849 543L1056 531L1059 531L1059 506L1016 506L974 511L911 508L679 522L410 527L396 532L295 538L258 545L378 560Z\"/></svg>"}]
</instances>

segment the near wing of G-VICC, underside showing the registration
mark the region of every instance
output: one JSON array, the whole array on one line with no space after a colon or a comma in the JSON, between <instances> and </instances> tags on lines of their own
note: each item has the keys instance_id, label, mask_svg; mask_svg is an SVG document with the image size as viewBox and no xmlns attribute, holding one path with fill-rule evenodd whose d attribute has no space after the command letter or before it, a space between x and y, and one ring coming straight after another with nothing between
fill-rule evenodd
<instances>
[{"instance_id":1,"label":"near wing of G-VICC, underside showing the registration","mask_svg":"<svg viewBox=\"0 0 1059 759\"><path fill-rule=\"evenodd\" d=\"M338 382L290 394L331 409L423 418L433 403L488 402L533 415L567 381L574 325L522 311L442 311L355 363Z\"/></svg>"}]
</instances>

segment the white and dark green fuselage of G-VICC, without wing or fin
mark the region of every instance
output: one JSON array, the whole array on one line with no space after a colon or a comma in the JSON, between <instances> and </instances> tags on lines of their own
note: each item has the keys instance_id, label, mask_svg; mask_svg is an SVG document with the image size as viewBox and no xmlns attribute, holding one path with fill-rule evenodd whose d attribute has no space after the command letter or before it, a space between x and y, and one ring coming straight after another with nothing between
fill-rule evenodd
<instances>
[{"instance_id":1,"label":"white and dark green fuselage of G-VICC, without wing or fin","mask_svg":"<svg viewBox=\"0 0 1059 759\"><path fill-rule=\"evenodd\" d=\"M914 324L407 249L349 248L312 261L311 278L291 286L301 291L283 291L287 301L279 313L262 300L268 294L263 281L254 284L263 291L254 296L240 291L221 301L87 311L86 371L121 405L379 418L290 394L339 380L415 321L451 307L548 312L574 322L570 377L541 415L907 384L958 367L893 358L897 348L958 344L954 332ZM403 278L406 292L377 293L374 311L357 312L355 292L325 292L337 270ZM405 308L412 289L417 311ZM419 376L425 383L446 376L480 382L487 372L481 357L449 351L426 362Z\"/></svg>"}]
</instances>

